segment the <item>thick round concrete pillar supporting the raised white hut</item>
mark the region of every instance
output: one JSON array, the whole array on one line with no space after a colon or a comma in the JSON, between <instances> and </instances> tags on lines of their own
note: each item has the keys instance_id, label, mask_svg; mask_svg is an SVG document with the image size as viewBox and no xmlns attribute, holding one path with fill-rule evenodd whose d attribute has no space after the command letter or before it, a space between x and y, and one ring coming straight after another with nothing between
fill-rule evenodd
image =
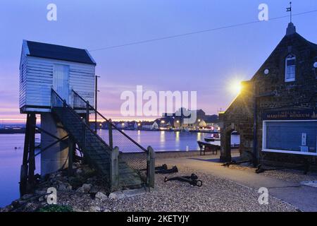
<instances>
[{"instance_id":1,"label":"thick round concrete pillar supporting the raised white hut","mask_svg":"<svg viewBox=\"0 0 317 226\"><path fill-rule=\"evenodd\" d=\"M56 124L51 113L41 114L41 128L58 138L63 138L67 135L67 132L61 128L61 124ZM46 148L54 141L56 141L56 138L46 133L41 133L41 149ZM41 154L42 177L68 167L68 141L67 139L65 141L56 143Z\"/></svg>"}]
</instances>

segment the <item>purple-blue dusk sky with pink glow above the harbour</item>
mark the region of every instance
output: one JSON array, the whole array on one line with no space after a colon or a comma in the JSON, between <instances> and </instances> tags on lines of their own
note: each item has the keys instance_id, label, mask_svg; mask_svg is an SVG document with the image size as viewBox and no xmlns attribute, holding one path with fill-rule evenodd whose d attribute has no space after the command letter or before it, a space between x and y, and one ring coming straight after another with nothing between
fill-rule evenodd
<instances>
[{"instance_id":1,"label":"purple-blue dusk sky with pink glow above the harbour","mask_svg":"<svg viewBox=\"0 0 317 226\"><path fill-rule=\"evenodd\" d=\"M295 0L293 13L317 10L316 0ZM57 6L57 21L46 6ZM284 0L1 0L0 119L25 119L18 109L23 40L99 49L269 18L287 16ZM156 42L92 51L97 61L99 109L120 119L120 93L144 90L197 91L207 114L226 109L235 97L230 83L248 80L285 35L289 18L253 23ZM317 12L294 16L297 32L317 43Z\"/></svg>"}]
</instances>

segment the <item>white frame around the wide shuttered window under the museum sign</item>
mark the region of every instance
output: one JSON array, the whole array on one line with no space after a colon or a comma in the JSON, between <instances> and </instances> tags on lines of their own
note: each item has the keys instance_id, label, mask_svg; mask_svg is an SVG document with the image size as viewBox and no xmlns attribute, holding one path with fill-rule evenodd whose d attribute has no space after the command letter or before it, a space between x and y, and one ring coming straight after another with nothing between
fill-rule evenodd
<instances>
[{"instance_id":1,"label":"white frame around the wide shuttered window under the museum sign","mask_svg":"<svg viewBox=\"0 0 317 226\"><path fill-rule=\"evenodd\" d=\"M295 155L313 155L317 156L317 153L304 153L300 151L294 150L275 150L275 149L268 149L266 148L266 122L271 121L317 121L317 120L264 120L263 121L263 134L262 134L262 151L267 153L288 153L288 154L295 154ZM317 142L316 142L316 150L317 150Z\"/></svg>"}]
</instances>

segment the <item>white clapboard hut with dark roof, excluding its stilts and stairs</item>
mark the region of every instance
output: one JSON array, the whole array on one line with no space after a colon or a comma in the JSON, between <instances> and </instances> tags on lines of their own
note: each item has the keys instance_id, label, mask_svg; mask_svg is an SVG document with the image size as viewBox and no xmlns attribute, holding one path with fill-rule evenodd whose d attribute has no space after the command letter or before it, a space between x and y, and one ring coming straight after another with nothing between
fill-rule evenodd
<instances>
[{"instance_id":1,"label":"white clapboard hut with dark roof, excluding its stilts and stairs","mask_svg":"<svg viewBox=\"0 0 317 226\"><path fill-rule=\"evenodd\" d=\"M51 112L51 88L70 106L72 90L94 105L95 66L86 49L23 40L20 112Z\"/></svg>"}]
</instances>

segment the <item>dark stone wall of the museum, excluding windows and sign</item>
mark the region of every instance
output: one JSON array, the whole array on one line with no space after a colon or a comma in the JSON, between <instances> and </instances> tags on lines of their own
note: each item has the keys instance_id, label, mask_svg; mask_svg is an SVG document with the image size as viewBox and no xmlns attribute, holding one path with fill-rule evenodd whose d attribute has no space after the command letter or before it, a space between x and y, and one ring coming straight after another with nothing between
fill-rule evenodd
<instances>
[{"instance_id":1,"label":"dark stone wall of the museum, excluding windows and sign","mask_svg":"<svg viewBox=\"0 0 317 226\"><path fill-rule=\"evenodd\" d=\"M289 54L296 57L294 82L285 82L285 59ZM221 160L230 160L228 133L232 130L237 130L241 135L240 152L242 156L247 156L243 153L254 153L254 109L256 109L257 159L302 162L305 157L298 155L261 152L263 134L261 115L263 112L274 109L316 110L317 79L316 69L313 67L316 61L316 44L305 40L297 33L286 35L282 39L254 77L250 81L244 82L242 93L232 102L225 113L220 114L223 127ZM254 105L255 102L256 105Z\"/></svg>"}]
</instances>

